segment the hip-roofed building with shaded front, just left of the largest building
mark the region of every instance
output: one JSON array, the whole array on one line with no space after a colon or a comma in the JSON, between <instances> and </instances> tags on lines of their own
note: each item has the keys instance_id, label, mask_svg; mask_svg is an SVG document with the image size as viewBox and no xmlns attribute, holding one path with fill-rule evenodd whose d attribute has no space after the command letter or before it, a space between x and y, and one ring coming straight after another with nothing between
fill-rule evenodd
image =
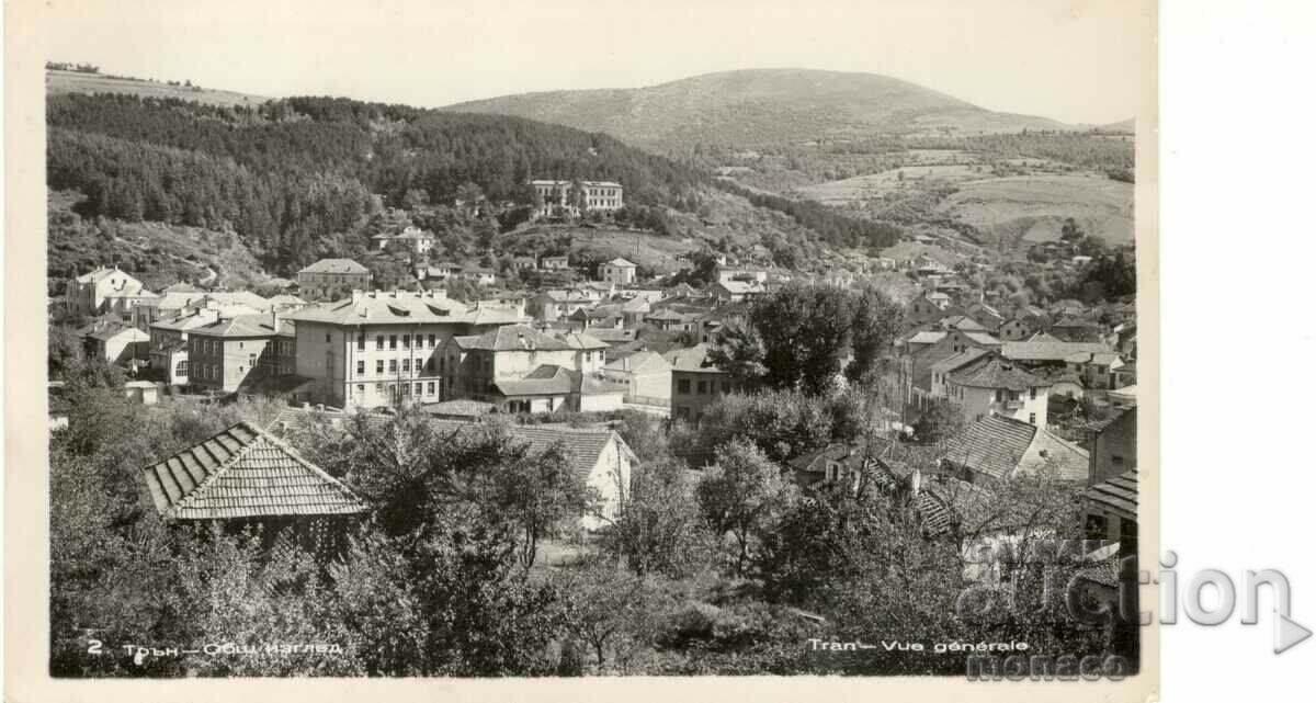
<instances>
[{"instance_id":1,"label":"hip-roofed building with shaded front, just left of the largest building","mask_svg":"<svg viewBox=\"0 0 1316 703\"><path fill-rule=\"evenodd\" d=\"M187 330L190 386L233 392L247 380L292 375L297 348L293 325L279 313L218 317Z\"/></svg>"}]
</instances>

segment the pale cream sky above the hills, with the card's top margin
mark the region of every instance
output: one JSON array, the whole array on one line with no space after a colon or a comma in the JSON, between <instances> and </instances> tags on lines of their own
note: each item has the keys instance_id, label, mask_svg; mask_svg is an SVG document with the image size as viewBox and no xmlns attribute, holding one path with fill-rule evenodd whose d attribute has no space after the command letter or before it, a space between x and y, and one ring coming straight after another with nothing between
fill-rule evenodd
<instances>
[{"instance_id":1,"label":"pale cream sky above the hills, with the card's top margin","mask_svg":"<svg viewBox=\"0 0 1316 703\"><path fill-rule=\"evenodd\" d=\"M46 55L261 96L438 107L737 68L888 75L976 105L1138 112L1146 0L47 0Z\"/></svg>"}]
</instances>

